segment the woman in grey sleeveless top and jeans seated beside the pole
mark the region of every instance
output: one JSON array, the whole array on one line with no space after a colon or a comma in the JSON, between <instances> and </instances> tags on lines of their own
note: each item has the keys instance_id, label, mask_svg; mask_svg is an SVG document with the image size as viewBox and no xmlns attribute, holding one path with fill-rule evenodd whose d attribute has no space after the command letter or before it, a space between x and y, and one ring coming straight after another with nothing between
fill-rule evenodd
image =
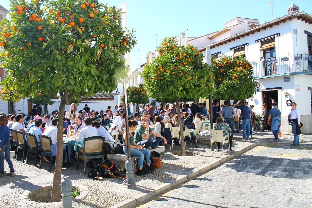
<instances>
[{"instance_id":1,"label":"woman in grey sleeveless top and jeans seated beside the pole","mask_svg":"<svg viewBox=\"0 0 312 208\"><path fill-rule=\"evenodd\" d=\"M151 163L150 152L148 149L142 148L142 146L140 146L134 142L134 136L133 136L132 132L134 132L136 130L138 123L136 121L132 120L132 121L128 121L128 124L129 124L130 155L133 157L139 158L139 161L138 161L138 169L139 170L136 174L139 176L146 176L146 174L142 171L144 157L145 157L145 161L148 164L151 171L154 170L154 168L152 168L150 166L150 163ZM127 146L126 146L126 144L127 144L126 132L124 132L124 135L123 135L123 143L125 144L123 146L124 153L127 154L128 150L127 150Z\"/></svg>"}]
</instances>

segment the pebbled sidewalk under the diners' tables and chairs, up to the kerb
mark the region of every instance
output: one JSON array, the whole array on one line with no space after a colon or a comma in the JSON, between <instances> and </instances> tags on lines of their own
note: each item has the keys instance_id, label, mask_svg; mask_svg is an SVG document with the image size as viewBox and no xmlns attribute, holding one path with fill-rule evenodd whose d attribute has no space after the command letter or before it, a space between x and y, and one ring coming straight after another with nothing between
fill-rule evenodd
<instances>
[{"instance_id":1,"label":"pebbled sidewalk under the diners' tables and chairs, up to the kerb","mask_svg":"<svg viewBox=\"0 0 312 208\"><path fill-rule=\"evenodd\" d=\"M235 134L240 135L240 134ZM281 143L292 140L292 134L283 134ZM300 142L312 141L311 135L300 135ZM250 140L234 140L233 150L247 147L256 142L273 141L273 135L270 132L259 132ZM199 142L199 141L198 141ZM76 170L76 162L71 161L74 165L69 168L63 168L62 174L70 176L73 186L83 185L89 188L88 195L82 199L73 202L73 207L110 207L121 201L127 200L130 197L138 196L142 193L149 193L157 186L164 182L177 178L180 175L188 175L194 168L201 167L205 164L221 160L227 157L228 153L210 152L210 149L196 148L195 141L191 146L187 144L186 149L198 152L198 155L192 157L182 157L171 153L172 150L166 147L166 151L161 153L163 159L163 167L155 171L156 175L149 174L147 177L135 176L136 188L128 189L122 184L119 179L105 179L104 181L95 181L88 178L83 172L83 163L80 162L80 169ZM225 147L226 148L226 147ZM174 151L180 150L179 145L174 146ZM41 186L52 184L53 173L47 171L48 164L43 163L42 169L39 165L34 166L34 160L30 159L29 164L12 159L15 168L15 177L3 177L0 179L0 207L15 208L29 207L19 203L18 196L25 190L33 191ZM7 163L5 162L5 170L8 171ZM87 172L90 168L87 168ZM39 206L32 205L32 208ZM40 206L42 207L42 206ZM54 206L61 207L61 206Z\"/></svg>"}]
</instances>

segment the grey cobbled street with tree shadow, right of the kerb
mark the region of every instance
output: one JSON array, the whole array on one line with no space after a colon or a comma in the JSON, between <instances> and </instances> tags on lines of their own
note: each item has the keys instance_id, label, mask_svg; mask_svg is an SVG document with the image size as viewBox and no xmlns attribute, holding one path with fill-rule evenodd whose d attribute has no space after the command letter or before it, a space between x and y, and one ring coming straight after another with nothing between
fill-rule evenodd
<instances>
[{"instance_id":1,"label":"grey cobbled street with tree shadow, right of the kerb","mask_svg":"<svg viewBox=\"0 0 312 208\"><path fill-rule=\"evenodd\" d=\"M142 207L311 207L312 144L258 146Z\"/></svg>"}]
</instances>

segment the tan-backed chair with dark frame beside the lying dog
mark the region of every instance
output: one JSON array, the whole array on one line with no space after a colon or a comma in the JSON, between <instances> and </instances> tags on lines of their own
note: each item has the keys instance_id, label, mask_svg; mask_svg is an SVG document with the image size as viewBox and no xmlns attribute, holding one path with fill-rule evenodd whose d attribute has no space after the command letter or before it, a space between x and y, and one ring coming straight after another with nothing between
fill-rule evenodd
<instances>
[{"instance_id":1,"label":"tan-backed chair with dark frame beside the lying dog","mask_svg":"<svg viewBox=\"0 0 312 208\"><path fill-rule=\"evenodd\" d=\"M103 145L104 145L105 137L102 136L93 136L83 139L83 147L79 144L77 145L77 163L76 168L79 169L79 156L83 157L84 162L84 171L85 174L87 173L87 159L94 159L94 158L102 158L104 161L103 155Z\"/></svg>"}]
</instances>

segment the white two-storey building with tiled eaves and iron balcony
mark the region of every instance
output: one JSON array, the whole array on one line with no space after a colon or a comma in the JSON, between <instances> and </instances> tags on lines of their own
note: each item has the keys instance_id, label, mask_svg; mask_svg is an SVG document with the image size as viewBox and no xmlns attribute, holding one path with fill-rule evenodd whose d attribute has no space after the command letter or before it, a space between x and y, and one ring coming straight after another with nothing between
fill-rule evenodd
<instances>
[{"instance_id":1,"label":"white two-storey building with tiled eaves and iron balcony","mask_svg":"<svg viewBox=\"0 0 312 208\"><path fill-rule=\"evenodd\" d=\"M256 19L236 17L222 30L188 41L201 51L210 45L211 56L245 56L253 65L257 81L254 111L261 113L262 104L271 108L271 99L282 112L281 131L291 132L287 116L296 102L300 111L302 133L311 133L312 124L312 16L291 4L287 14L259 24ZM203 53L206 56L206 53ZM205 58L204 58L205 59ZM286 98L285 94L289 93Z\"/></svg>"}]
</instances>

